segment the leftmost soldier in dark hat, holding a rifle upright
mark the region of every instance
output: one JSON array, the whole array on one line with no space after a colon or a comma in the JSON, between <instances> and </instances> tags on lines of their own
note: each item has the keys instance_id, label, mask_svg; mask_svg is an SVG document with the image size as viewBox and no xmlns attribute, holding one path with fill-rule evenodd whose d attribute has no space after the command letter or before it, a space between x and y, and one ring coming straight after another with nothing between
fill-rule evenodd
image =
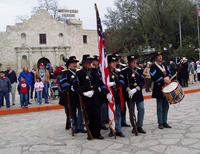
<instances>
[{"instance_id":1,"label":"leftmost soldier in dark hat, holding a rifle upright","mask_svg":"<svg viewBox=\"0 0 200 154\"><path fill-rule=\"evenodd\" d=\"M70 96L70 107L71 107L72 125L74 129L74 133L78 133L78 132L86 133L87 131L84 130L84 125L83 125L79 96L73 89L73 81L75 80L78 62L79 61L76 59L75 56L69 57L69 60L66 62L66 67L68 68L68 70L62 73L62 80L65 80L69 84L67 86L68 87L67 90ZM64 93L63 95L66 95L66 93ZM64 101L67 101L67 100L64 100ZM76 115L77 111L78 111L78 116Z\"/></svg>"}]
</instances>

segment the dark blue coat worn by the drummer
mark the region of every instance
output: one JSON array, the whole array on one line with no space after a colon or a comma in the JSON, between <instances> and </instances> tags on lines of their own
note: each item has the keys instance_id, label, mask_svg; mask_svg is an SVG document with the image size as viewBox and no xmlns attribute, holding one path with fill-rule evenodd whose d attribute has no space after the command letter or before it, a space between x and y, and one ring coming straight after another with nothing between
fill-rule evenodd
<instances>
[{"instance_id":1,"label":"dark blue coat worn by the drummer","mask_svg":"<svg viewBox=\"0 0 200 154\"><path fill-rule=\"evenodd\" d=\"M150 67L151 79L154 82L152 93L153 98L164 98L164 95L162 93L162 87L165 85L164 78L167 76L169 78L172 77L169 69L167 68L167 65L165 63L162 63L162 65L165 67L166 75L164 75L164 73L158 68L156 64L153 64Z\"/></svg>"}]
</instances>

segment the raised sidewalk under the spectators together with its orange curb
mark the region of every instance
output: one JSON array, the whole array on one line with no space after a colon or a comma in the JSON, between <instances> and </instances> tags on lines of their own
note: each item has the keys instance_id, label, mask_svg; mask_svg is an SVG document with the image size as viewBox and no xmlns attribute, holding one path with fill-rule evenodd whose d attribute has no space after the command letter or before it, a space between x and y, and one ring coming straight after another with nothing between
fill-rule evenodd
<instances>
[{"instance_id":1,"label":"raised sidewalk under the spectators together with its orange curb","mask_svg":"<svg viewBox=\"0 0 200 154\"><path fill-rule=\"evenodd\" d=\"M189 87L183 88L183 90L186 91L185 93L190 93L190 92L193 92L192 89L198 89L197 91L200 91L199 88L200 88L200 82L196 82L195 84L189 84ZM143 89L144 99L151 98L151 94L152 94L152 92L145 92L145 89ZM0 115L53 110L53 109L62 109L63 108L63 106L58 105L59 98L56 98L54 100L49 99L49 104L45 104L45 102L43 101L43 103L44 103L43 105L38 105L37 101L35 101L35 100L30 101L32 104L29 105L28 109L22 109L20 106L19 100L20 100L19 95L17 95L15 105L11 105L10 109L7 109L6 106L2 106L0 109ZM5 101L4 101L4 105L5 105Z\"/></svg>"}]
</instances>

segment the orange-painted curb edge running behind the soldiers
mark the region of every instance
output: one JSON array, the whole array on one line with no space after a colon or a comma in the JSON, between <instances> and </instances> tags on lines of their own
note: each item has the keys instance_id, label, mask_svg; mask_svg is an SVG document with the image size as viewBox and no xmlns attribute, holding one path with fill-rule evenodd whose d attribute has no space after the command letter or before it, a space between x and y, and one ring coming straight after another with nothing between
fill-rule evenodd
<instances>
[{"instance_id":1,"label":"orange-painted curb edge running behind the soldiers","mask_svg":"<svg viewBox=\"0 0 200 154\"><path fill-rule=\"evenodd\" d=\"M194 93L194 92L198 92L198 91L200 91L200 88L184 90L184 93L188 94L188 93ZM151 98L152 98L152 95L144 95L144 99L151 99ZM0 110L0 116L8 115L8 114L19 114L19 113L57 110L57 109L64 109L64 107L57 104L57 105L29 107L27 109L26 108L3 109L3 110Z\"/></svg>"}]
</instances>

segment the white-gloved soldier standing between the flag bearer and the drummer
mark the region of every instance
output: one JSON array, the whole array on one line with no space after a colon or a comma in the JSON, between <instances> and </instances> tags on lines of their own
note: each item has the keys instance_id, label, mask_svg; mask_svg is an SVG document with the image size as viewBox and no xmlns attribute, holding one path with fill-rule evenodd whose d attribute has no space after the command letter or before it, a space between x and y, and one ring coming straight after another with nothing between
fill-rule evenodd
<instances>
[{"instance_id":1,"label":"white-gloved soldier standing between the flag bearer and the drummer","mask_svg":"<svg viewBox=\"0 0 200 154\"><path fill-rule=\"evenodd\" d=\"M136 67L136 57L134 55L130 55L127 57L128 59L128 67L122 69L122 74L124 75L125 79L125 86L124 86L124 100L127 101L128 108L129 108L129 115L130 115L130 122L132 127L134 127L134 122L132 118L131 112L131 104L130 99L133 102L133 111L135 111L135 105L137 106L138 116L137 116L137 129L138 132L145 134L146 132L142 129L143 120L144 120L144 98L142 94L142 88L144 85L144 76L143 70L140 67ZM128 80L130 83L130 87L128 87ZM134 132L134 128L132 133Z\"/></svg>"}]
</instances>

